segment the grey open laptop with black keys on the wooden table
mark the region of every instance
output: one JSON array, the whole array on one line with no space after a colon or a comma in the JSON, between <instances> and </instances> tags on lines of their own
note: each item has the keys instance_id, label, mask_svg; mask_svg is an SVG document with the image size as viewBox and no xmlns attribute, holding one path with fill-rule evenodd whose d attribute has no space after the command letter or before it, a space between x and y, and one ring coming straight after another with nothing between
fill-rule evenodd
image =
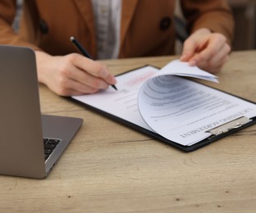
<instances>
[{"instance_id":1,"label":"grey open laptop with black keys on the wooden table","mask_svg":"<svg viewBox=\"0 0 256 213\"><path fill-rule=\"evenodd\" d=\"M0 174L42 179L83 120L41 115L34 51L0 45Z\"/></svg>"}]
</instances>

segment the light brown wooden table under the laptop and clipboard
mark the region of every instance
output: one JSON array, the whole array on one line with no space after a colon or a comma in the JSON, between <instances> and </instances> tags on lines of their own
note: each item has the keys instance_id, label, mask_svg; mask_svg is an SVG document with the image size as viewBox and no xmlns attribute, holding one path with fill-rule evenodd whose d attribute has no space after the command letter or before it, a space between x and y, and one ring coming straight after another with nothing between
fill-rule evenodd
<instances>
[{"instance_id":1,"label":"light brown wooden table under the laptop and clipboard","mask_svg":"<svg viewBox=\"0 0 256 213\"><path fill-rule=\"evenodd\" d=\"M174 57L105 61L114 74ZM233 52L210 84L256 102L256 51ZM0 176L1 212L255 212L256 125L181 152L40 85L44 114L85 120L46 179Z\"/></svg>"}]
</instances>

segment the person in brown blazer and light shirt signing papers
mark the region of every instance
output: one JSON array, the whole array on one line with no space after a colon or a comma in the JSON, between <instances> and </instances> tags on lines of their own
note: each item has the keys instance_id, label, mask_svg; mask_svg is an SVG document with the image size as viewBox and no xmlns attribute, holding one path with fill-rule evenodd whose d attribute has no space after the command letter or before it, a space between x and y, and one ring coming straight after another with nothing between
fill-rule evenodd
<instances>
[{"instance_id":1,"label":"person in brown blazer and light shirt signing papers","mask_svg":"<svg viewBox=\"0 0 256 213\"><path fill-rule=\"evenodd\" d=\"M116 84L106 66L83 57L69 41L82 43L94 59L174 54L174 0L24 0L21 30L11 28L15 0L0 2L0 43L33 48L39 82L70 96ZM231 51L233 19L225 0L181 0L190 37L181 61L216 72Z\"/></svg>"}]
</instances>

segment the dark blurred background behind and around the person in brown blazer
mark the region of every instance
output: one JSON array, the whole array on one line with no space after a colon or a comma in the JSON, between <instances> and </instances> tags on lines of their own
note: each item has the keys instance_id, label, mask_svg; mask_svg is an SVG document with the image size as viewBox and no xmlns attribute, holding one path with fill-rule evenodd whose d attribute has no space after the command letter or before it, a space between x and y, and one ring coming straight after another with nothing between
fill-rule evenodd
<instances>
[{"instance_id":1,"label":"dark blurred background behind and around the person in brown blazer","mask_svg":"<svg viewBox=\"0 0 256 213\"><path fill-rule=\"evenodd\" d=\"M23 0L17 0L16 19L13 28L19 29L19 17ZM182 40L185 39L184 20L176 0L176 29L179 31L177 37L176 53L181 52ZM227 0L235 17L235 39L233 50L256 49L256 0Z\"/></svg>"}]
</instances>

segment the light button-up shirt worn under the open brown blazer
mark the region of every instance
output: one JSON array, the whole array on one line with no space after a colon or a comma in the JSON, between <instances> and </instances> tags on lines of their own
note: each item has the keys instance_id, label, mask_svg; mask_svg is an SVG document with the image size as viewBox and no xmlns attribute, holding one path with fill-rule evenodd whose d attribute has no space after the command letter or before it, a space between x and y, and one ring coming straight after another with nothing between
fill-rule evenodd
<instances>
[{"instance_id":1,"label":"light button-up shirt worn under the open brown blazer","mask_svg":"<svg viewBox=\"0 0 256 213\"><path fill-rule=\"evenodd\" d=\"M121 0L91 0L98 59L117 58L120 46Z\"/></svg>"}]
</instances>

